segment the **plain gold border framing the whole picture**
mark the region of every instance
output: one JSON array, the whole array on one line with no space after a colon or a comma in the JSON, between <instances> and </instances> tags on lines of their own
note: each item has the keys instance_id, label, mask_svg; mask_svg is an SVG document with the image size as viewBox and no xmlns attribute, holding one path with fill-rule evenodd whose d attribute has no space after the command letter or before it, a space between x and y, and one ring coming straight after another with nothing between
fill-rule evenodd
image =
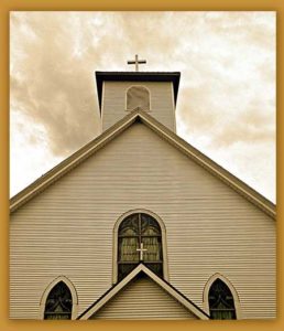
<instances>
[{"instance_id":1,"label":"plain gold border framing the whole picture","mask_svg":"<svg viewBox=\"0 0 284 331\"><path fill-rule=\"evenodd\" d=\"M0 330L19 331L19 330L133 330L144 331L145 329L155 328L155 330L192 330L210 331L210 330L258 330L258 331L274 331L283 330L283 266L281 257L283 247L283 225L282 221L282 188L283 175L282 169L283 153L281 147L283 142L283 132L281 127L283 125L283 96L281 88L283 87L283 65L281 58L283 57L283 15L284 2L281 0L236 0L232 2L226 0L156 0L156 1L140 1L130 2L129 0L105 0L103 4L100 1L81 0L81 1L56 1L56 0L2 0L0 2L0 220L1 220L1 273L0 273ZM163 10L181 10L181 11L276 11L277 12L277 318L275 320L241 320L241 321L23 321L9 320L9 12L13 10L19 11L107 11L107 10L148 10L148 11L163 11Z\"/></svg>"}]
</instances>

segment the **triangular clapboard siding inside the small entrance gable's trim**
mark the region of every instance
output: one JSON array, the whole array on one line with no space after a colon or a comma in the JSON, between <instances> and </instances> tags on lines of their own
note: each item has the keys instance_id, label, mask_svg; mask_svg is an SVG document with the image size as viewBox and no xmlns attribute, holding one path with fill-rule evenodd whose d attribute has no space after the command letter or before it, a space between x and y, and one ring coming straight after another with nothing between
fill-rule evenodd
<instances>
[{"instance_id":1,"label":"triangular clapboard siding inside the small entrance gable's trim","mask_svg":"<svg viewBox=\"0 0 284 331\"><path fill-rule=\"evenodd\" d=\"M197 319L149 278L133 279L90 319Z\"/></svg>"}]
</instances>

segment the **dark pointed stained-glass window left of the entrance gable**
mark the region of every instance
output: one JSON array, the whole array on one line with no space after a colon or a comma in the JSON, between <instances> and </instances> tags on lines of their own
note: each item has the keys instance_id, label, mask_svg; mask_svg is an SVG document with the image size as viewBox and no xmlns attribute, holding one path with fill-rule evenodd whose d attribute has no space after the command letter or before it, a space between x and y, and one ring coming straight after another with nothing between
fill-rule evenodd
<instances>
[{"instance_id":1,"label":"dark pointed stained-glass window left of the entrance gable","mask_svg":"<svg viewBox=\"0 0 284 331\"><path fill-rule=\"evenodd\" d=\"M73 300L68 286L57 282L50 291L44 308L45 320L70 320Z\"/></svg>"}]
</instances>

